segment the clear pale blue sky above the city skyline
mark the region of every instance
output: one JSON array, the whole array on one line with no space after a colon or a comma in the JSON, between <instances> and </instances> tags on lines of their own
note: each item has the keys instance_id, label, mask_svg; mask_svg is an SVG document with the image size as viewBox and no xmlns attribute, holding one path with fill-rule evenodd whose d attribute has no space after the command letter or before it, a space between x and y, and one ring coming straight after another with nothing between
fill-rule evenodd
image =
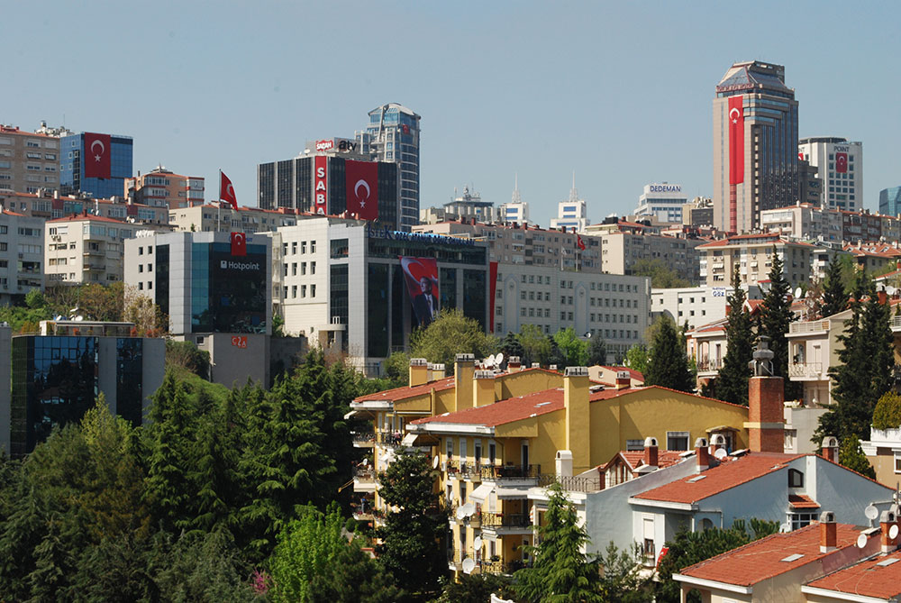
<instances>
[{"instance_id":1,"label":"clear pale blue sky above the city skyline","mask_svg":"<svg viewBox=\"0 0 901 603\"><path fill-rule=\"evenodd\" d=\"M84 7L83 7L84 6ZM547 224L572 170L589 217L642 186L711 194L711 100L736 60L786 66L800 134L864 144L864 206L901 185L895 3L19 2L0 0L0 122L134 138L134 167L256 164L352 135L398 102L423 116L423 206L519 173Z\"/></svg>"}]
</instances>

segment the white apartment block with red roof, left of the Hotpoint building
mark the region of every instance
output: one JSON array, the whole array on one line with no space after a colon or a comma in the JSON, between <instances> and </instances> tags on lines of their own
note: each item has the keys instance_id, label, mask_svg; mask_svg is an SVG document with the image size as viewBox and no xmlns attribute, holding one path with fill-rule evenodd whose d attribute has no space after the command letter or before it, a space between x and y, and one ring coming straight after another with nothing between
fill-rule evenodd
<instances>
[{"instance_id":1,"label":"white apartment block with red roof, left of the Hotpoint building","mask_svg":"<svg viewBox=\"0 0 901 603\"><path fill-rule=\"evenodd\" d=\"M87 213L48 220L43 226L47 284L123 280L123 243L145 228Z\"/></svg>"}]
</instances>

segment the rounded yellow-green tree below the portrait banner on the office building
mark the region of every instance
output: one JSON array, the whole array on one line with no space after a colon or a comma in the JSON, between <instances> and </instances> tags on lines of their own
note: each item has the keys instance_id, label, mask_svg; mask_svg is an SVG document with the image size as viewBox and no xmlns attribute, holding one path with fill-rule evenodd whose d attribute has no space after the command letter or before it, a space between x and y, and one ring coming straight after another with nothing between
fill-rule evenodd
<instances>
[{"instance_id":1,"label":"rounded yellow-green tree below the portrait banner on the office building","mask_svg":"<svg viewBox=\"0 0 901 603\"><path fill-rule=\"evenodd\" d=\"M457 354L475 354L485 358L497 347L493 336L485 333L478 321L467 318L460 310L441 310L435 320L424 329L416 329L410 335L410 349L414 358L443 363L448 370L453 367Z\"/></svg>"}]
</instances>

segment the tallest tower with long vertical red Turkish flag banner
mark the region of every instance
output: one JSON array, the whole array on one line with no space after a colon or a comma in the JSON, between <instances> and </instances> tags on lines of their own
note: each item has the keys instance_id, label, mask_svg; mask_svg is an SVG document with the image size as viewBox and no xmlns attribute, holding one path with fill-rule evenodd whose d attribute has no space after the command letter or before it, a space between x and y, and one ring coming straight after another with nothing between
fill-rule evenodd
<instances>
[{"instance_id":1,"label":"tallest tower with long vertical red Turkish flag banner","mask_svg":"<svg viewBox=\"0 0 901 603\"><path fill-rule=\"evenodd\" d=\"M760 226L760 211L799 196L797 101L785 67L735 63L714 97L714 226Z\"/></svg>"}]
</instances>

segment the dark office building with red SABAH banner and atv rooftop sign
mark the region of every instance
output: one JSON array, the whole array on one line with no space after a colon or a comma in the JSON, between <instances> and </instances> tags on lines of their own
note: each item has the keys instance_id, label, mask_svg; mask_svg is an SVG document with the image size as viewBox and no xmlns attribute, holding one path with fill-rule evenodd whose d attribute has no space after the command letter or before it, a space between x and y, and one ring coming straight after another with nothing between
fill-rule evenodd
<instances>
[{"instance_id":1,"label":"dark office building with red SABAH banner and atv rooftop sign","mask_svg":"<svg viewBox=\"0 0 901 603\"><path fill-rule=\"evenodd\" d=\"M312 214L341 215L349 211L349 198L351 202L357 202L359 196L371 196L378 199L374 207L369 206L377 215L373 221L396 228L401 210L398 196L400 166L393 161L374 159L372 152L363 151L358 142L349 139L307 142L299 157L257 166L259 207L287 207ZM370 174L366 169L368 165L378 166L376 173ZM369 174L365 178L369 182L366 186L359 185L359 180L356 180L359 187L351 184L350 195L349 166L354 173ZM364 200L364 203L368 202Z\"/></svg>"}]
</instances>

